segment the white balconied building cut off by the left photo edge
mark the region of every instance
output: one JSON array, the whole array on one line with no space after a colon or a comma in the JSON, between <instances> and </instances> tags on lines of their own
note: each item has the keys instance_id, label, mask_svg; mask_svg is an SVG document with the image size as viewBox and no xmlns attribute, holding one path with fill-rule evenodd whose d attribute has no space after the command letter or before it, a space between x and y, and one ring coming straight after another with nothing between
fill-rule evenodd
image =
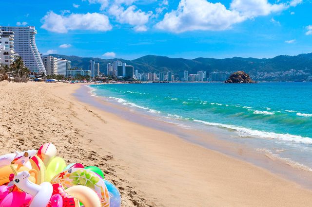
<instances>
[{"instance_id":1,"label":"white balconied building cut off by the left photo edge","mask_svg":"<svg viewBox=\"0 0 312 207\"><path fill-rule=\"evenodd\" d=\"M14 60L14 33L0 31L0 64L10 66Z\"/></svg>"}]
</instances>

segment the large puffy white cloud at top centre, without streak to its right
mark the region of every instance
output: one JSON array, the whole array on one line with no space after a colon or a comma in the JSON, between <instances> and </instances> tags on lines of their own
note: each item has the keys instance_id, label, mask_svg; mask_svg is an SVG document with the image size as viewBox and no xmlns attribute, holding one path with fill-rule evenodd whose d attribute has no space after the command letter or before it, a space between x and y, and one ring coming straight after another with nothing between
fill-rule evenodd
<instances>
[{"instance_id":1,"label":"large puffy white cloud at top centre, without streak to its right","mask_svg":"<svg viewBox=\"0 0 312 207\"><path fill-rule=\"evenodd\" d=\"M221 3L207 0L181 0L177 10L165 14L157 29L181 33L192 30L226 30L245 20L237 11L228 10Z\"/></svg>"}]
</instances>

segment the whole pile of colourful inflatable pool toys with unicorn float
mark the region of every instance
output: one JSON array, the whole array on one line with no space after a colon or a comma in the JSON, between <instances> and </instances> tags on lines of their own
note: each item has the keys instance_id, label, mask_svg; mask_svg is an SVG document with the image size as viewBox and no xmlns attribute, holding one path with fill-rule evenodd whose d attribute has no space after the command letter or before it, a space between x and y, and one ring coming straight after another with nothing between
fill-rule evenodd
<instances>
[{"instance_id":1,"label":"whole pile of colourful inflatable pool toys with unicorn float","mask_svg":"<svg viewBox=\"0 0 312 207\"><path fill-rule=\"evenodd\" d=\"M120 207L117 188L95 166L66 166L52 143L0 156L0 207Z\"/></svg>"}]
</instances>

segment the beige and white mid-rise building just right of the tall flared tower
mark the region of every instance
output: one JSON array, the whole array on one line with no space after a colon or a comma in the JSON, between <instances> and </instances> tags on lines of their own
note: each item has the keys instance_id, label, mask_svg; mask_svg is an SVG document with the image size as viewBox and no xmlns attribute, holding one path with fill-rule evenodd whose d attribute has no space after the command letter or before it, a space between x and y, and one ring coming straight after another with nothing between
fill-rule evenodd
<instances>
[{"instance_id":1,"label":"beige and white mid-rise building just right of the tall flared tower","mask_svg":"<svg viewBox=\"0 0 312 207\"><path fill-rule=\"evenodd\" d=\"M66 71L71 68L71 61L66 59L60 59L51 55L43 56L42 62L47 75L64 75Z\"/></svg>"}]
</instances>

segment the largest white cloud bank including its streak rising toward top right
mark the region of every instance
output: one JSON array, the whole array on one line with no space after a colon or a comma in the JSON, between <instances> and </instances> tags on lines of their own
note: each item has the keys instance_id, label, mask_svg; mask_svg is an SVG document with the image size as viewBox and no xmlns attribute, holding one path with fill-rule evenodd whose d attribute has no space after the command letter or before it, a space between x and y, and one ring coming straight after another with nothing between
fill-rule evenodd
<instances>
[{"instance_id":1,"label":"largest white cloud bank including its streak rising toward top right","mask_svg":"<svg viewBox=\"0 0 312 207\"><path fill-rule=\"evenodd\" d=\"M247 19L280 13L302 1L290 0L283 3L276 0L277 3L270 3L268 0L232 0L230 8L226 8L222 3L212 3L209 0L180 0L178 8L166 13L156 24L156 28L174 33L226 30ZM156 14L162 11L158 9Z\"/></svg>"}]
</instances>

